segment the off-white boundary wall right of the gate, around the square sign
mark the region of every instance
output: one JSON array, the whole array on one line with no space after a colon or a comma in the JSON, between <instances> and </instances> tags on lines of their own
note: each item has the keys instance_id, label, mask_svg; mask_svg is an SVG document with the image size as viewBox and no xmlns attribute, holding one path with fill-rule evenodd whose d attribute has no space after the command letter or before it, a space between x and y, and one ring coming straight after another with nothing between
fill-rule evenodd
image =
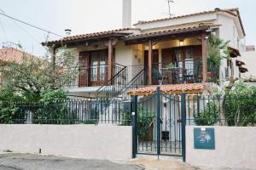
<instances>
[{"instance_id":1,"label":"off-white boundary wall right of the gate, around the square sign","mask_svg":"<svg viewBox=\"0 0 256 170\"><path fill-rule=\"evenodd\" d=\"M186 162L205 167L256 168L256 127L214 126L215 150L194 149L194 127L186 127Z\"/></svg>"}]
</instances>

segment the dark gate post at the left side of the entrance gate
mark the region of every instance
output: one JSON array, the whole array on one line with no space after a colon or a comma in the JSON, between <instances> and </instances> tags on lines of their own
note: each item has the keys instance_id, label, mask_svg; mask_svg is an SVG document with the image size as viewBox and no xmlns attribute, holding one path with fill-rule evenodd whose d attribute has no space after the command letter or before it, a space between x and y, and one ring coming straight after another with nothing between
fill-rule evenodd
<instances>
[{"instance_id":1,"label":"dark gate post at the left side of the entrance gate","mask_svg":"<svg viewBox=\"0 0 256 170\"><path fill-rule=\"evenodd\" d=\"M131 98L132 158L137 157L137 95Z\"/></svg>"}]
</instances>

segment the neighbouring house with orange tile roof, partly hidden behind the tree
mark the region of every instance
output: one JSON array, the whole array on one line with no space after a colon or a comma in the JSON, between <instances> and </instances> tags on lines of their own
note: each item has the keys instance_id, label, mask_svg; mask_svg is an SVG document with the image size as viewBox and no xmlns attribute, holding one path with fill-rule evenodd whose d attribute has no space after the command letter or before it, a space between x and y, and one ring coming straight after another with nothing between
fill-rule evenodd
<instances>
[{"instance_id":1,"label":"neighbouring house with orange tile roof, partly hidden behind the tree","mask_svg":"<svg viewBox=\"0 0 256 170\"><path fill-rule=\"evenodd\" d=\"M6 46L0 49L0 65L1 65L0 87L1 88L6 83L6 79L4 78L4 73L3 73L4 67L6 65L9 65L10 63L21 64L24 61L25 56L26 56L26 59L39 59L38 57L32 54L27 54L26 52L18 48L14 48L12 46Z\"/></svg>"}]
</instances>

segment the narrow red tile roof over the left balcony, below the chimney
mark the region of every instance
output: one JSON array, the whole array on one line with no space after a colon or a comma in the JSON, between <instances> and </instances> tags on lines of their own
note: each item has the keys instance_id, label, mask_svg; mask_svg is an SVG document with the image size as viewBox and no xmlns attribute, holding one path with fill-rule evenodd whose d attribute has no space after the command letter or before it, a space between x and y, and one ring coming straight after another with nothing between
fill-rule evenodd
<instances>
[{"instance_id":1,"label":"narrow red tile roof over the left balcony, below the chimney","mask_svg":"<svg viewBox=\"0 0 256 170\"><path fill-rule=\"evenodd\" d=\"M90 38L96 38L96 37L104 37L104 36L110 36L113 34L130 34L129 32L125 31L131 31L131 30L139 30L137 28L123 28L123 29L117 29L117 30L110 30L110 31L99 31L99 32L93 32L89 34L80 34L75 36L69 36L69 37L63 37L59 40L55 41L49 41L49 42L42 42L43 45L52 44L52 43L60 43L60 42L70 42L70 41L79 41L84 39L90 39Z\"/></svg>"}]
</instances>

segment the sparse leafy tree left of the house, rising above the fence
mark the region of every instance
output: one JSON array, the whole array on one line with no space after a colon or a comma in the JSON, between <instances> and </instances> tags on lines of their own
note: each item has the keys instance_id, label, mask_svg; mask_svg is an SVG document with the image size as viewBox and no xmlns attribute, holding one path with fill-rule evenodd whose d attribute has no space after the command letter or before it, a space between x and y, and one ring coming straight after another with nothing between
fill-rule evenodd
<instances>
[{"instance_id":1,"label":"sparse leafy tree left of the house, rising above the fence","mask_svg":"<svg viewBox=\"0 0 256 170\"><path fill-rule=\"evenodd\" d=\"M47 91L58 91L65 88L70 77L75 74L74 55L65 47L55 55L55 63L49 61L50 56L38 59L24 54L21 63L10 63L4 69L7 79L5 88L20 94L26 101L37 102Z\"/></svg>"}]
</instances>

